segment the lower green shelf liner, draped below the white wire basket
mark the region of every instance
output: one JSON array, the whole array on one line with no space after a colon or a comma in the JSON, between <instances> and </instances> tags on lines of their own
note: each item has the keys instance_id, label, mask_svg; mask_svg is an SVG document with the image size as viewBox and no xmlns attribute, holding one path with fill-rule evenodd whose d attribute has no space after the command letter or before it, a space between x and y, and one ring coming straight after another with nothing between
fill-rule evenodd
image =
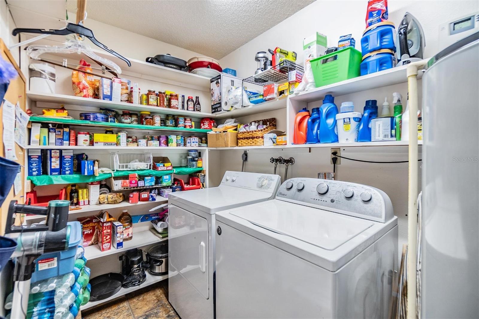
<instances>
[{"instance_id":1,"label":"lower green shelf liner, draped below the white wire basket","mask_svg":"<svg viewBox=\"0 0 479 319\"><path fill-rule=\"evenodd\" d=\"M129 174L137 173L140 176L164 176L171 173L177 175L188 175L191 173L203 171L203 168L189 168L189 167L176 167L170 171L155 171L155 170L133 170L133 171L115 171L114 177L124 177ZM112 177L112 174L105 173L95 175L81 175L80 173L73 173L73 175L40 175L40 176L27 176L27 179L32 181L36 186L45 186L52 184L78 184L87 182L99 182L107 178Z\"/></svg>"}]
</instances>

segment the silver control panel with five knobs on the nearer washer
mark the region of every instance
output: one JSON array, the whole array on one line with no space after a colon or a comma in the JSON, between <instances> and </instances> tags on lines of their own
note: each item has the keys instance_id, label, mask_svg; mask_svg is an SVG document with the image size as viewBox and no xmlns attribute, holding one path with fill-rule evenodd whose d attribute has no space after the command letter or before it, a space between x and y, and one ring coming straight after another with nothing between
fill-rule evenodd
<instances>
[{"instance_id":1,"label":"silver control panel with five knobs on the nearer washer","mask_svg":"<svg viewBox=\"0 0 479 319\"><path fill-rule=\"evenodd\" d=\"M389 196L363 184L316 178L292 178L276 199L385 223L393 218Z\"/></svg>"}]
</instances>

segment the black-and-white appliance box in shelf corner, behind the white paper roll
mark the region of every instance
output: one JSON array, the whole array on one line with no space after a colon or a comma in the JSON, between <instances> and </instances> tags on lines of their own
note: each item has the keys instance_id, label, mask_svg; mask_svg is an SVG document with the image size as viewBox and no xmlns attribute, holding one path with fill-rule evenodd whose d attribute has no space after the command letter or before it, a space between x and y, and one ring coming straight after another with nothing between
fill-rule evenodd
<instances>
[{"instance_id":1,"label":"black-and-white appliance box in shelf corner, behind the white paper roll","mask_svg":"<svg viewBox=\"0 0 479 319\"><path fill-rule=\"evenodd\" d=\"M227 101L227 92L231 87L241 88L241 79L229 74L220 74L210 80L211 83L211 113L231 111L233 105Z\"/></svg>"}]
</instances>

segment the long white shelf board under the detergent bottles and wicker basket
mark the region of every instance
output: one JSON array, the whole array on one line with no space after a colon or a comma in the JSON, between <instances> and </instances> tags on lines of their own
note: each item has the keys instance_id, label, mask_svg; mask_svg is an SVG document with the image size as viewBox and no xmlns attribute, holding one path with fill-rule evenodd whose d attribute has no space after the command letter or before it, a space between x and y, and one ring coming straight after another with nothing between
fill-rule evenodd
<instances>
[{"instance_id":1,"label":"long white shelf board under the detergent bottles and wicker basket","mask_svg":"<svg viewBox=\"0 0 479 319\"><path fill-rule=\"evenodd\" d=\"M408 146L408 141L378 141L378 142L355 142L355 143L319 143L319 144L290 144L290 145L272 145L272 146L235 146L230 148L208 148L208 149L286 149L286 148L343 148L343 147L388 147L388 146ZM422 141L418 141L422 145Z\"/></svg>"}]
</instances>

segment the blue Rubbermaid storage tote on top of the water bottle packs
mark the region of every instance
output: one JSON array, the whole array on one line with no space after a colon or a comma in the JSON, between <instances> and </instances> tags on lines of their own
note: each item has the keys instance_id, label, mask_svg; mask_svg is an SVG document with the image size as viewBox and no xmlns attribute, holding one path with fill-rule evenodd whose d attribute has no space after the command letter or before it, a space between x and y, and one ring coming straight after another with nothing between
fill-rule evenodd
<instances>
[{"instance_id":1,"label":"blue Rubbermaid storage tote on top of the water bottle packs","mask_svg":"<svg viewBox=\"0 0 479 319\"><path fill-rule=\"evenodd\" d=\"M32 274L32 283L73 271L75 254L81 241L81 225L78 221L68 222L67 225L70 227L68 250L49 252L35 259L35 271ZM39 261L43 262L39 263Z\"/></svg>"}]
</instances>

